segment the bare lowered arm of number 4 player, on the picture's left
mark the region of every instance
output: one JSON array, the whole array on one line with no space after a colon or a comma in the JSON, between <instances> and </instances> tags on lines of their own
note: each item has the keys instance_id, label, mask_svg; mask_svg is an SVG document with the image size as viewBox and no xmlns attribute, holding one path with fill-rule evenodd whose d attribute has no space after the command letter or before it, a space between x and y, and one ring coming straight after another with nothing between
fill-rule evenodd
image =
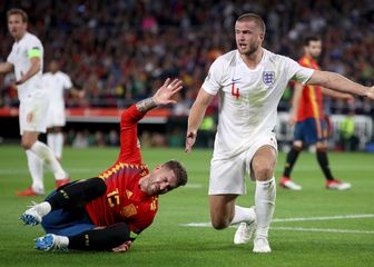
<instances>
[{"instance_id":1,"label":"bare lowered arm of number 4 player, on the picture's left","mask_svg":"<svg viewBox=\"0 0 374 267\"><path fill-rule=\"evenodd\" d=\"M186 135L186 152L190 152L193 150L193 146L197 136L197 129L201 125L205 111L207 107L211 103L214 97L215 96L207 93L203 88L200 89L195 100L195 103L189 111L188 128Z\"/></svg>"}]
</instances>

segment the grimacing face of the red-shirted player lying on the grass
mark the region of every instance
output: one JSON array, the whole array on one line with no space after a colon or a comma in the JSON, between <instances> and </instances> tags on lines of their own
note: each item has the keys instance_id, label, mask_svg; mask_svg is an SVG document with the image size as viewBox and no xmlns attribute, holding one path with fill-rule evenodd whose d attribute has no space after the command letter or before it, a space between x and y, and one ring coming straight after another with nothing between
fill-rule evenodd
<instances>
[{"instance_id":1,"label":"grimacing face of the red-shirted player lying on the grass","mask_svg":"<svg viewBox=\"0 0 374 267\"><path fill-rule=\"evenodd\" d=\"M163 195L177 187L177 177L169 168L158 166L149 177L140 182L144 182L147 195Z\"/></svg>"}]
</instances>

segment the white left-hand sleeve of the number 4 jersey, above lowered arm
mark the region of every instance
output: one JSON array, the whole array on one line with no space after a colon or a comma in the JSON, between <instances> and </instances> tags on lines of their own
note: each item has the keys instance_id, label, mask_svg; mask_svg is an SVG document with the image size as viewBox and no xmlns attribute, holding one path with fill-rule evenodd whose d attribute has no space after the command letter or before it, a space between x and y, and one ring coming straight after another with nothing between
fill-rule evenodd
<instances>
[{"instance_id":1,"label":"white left-hand sleeve of the number 4 jersey, above lowered arm","mask_svg":"<svg viewBox=\"0 0 374 267\"><path fill-rule=\"evenodd\" d=\"M224 66L222 57L217 58L210 66L208 76L205 78L205 81L201 86L201 88L206 92L215 96L222 88L223 70L224 70L223 67Z\"/></svg>"}]
</instances>

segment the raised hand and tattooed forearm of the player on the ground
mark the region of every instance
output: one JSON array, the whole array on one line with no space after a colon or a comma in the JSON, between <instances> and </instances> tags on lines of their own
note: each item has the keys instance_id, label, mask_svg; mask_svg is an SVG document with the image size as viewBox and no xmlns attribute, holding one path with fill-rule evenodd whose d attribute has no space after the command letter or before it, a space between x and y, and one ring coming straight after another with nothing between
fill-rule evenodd
<instances>
[{"instance_id":1,"label":"raised hand and tattooed forearm of the player on the ground","mask_svg":"<svg viewBox=\"0 0 374 267\"><path fill-rule=\"evenodd\" d=\"M156 108L158 106L176 103L177 101L173 99L174 95L183 88L181 80L174 79L170 82L170 79L166 79L164 85L157 90L154 97L144 99L136 103L137 109L145 113L148 110Z\"/></svg>"}]
</instances>

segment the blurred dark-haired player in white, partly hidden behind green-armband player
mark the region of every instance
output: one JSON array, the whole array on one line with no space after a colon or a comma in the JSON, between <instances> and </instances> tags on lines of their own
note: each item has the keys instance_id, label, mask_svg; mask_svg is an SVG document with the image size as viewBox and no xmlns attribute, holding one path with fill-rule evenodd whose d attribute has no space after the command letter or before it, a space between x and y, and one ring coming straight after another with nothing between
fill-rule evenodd
<instances>
[{"instance_id":1,"label":"blurred dark-haired player in white, partly hidden behind green-armband player","mask_svg":"<svg viewBox=\"0 0 374 267\"><path fill-rule=\"evenodd\" d=\"M49 72L42 76L43 86L49 92L49 110L47 121L47 142L58 160L62 158L63 134L66 125L65 90L69 90L73 97L83 98L85 91L72 86L70 77L60 71L59 62L49 62Z\"/></svg>"}]
</instances>

